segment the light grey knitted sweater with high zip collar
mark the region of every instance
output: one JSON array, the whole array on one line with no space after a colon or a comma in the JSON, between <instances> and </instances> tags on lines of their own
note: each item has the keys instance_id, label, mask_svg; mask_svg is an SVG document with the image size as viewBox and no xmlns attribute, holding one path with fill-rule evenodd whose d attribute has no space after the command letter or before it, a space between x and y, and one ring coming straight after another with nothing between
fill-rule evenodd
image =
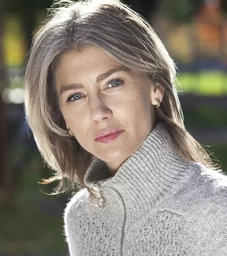
<instances>
[{"instance_id":1,"label":"light grey knitted sweater with high zip collar","mask_svg":"<svg viewBox=\"0 0 227 256\"><path fill-rule=\"evenodd\" d=\"M112 177L95 157L66 206L70 256L226 256L227 176L189 162L162 123ZM90 203L91 202L91 203Z\"/></svg>"}]
</instances>

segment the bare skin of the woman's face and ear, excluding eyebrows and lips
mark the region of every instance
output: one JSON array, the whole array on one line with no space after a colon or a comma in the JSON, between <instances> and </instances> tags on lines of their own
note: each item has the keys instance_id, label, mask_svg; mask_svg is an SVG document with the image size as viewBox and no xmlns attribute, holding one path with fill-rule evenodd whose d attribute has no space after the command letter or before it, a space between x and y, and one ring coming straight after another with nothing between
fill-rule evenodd
<instances>
[{"instance_id":1,"label":"bare skin of the woman's face and ear, excluding eyebrows and lips","mask_svg":"<svg viewBox=\"0 0 227 256\"><path fill-rule=\"evenodd\" d=\"M132 70L117 71L96 81L98 75L119 66L102 50L88 46L63 55L55 71L55 86L66 124L85 150L107 163L112 176L153 129L155 98L162 101L164 95L162 86L155 90L154 84L148 84ZM116 78L120 80L108 82ZM60 95L61 88L75 83L84 88L71 88ZM107 127L124 132L109 143L95 141L99 130Z\"/></svg>"}]
</instances>

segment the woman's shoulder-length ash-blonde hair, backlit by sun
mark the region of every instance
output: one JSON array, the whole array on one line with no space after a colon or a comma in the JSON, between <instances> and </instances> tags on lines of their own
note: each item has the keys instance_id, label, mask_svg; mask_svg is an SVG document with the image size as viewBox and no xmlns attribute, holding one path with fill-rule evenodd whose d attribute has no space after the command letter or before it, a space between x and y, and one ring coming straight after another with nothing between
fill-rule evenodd
<instances>
[{"instance_id":1,"label":"woman's shoulder-length ash-blonde hair, backlit by sun","mask_svg":"<svg viewBox=\"0 0 227 256\"><path fill-rule=\"evenodd\" d=\"M188 160L215 168L206 150L186 131L175 83L175 64L148 22L119 0L60 1L50 9L36 33L24 77L24 102L38 149L55 170L48 184L60 180L59 194L86 187L84 174L94 156L69 135L55 88L55 69L66 52L95 46L126 68L140 71L148 81L162 85L165 94L156 111L174 146ZM96 190L87 187L90 195Z\"/></svg>"}]
</instances>

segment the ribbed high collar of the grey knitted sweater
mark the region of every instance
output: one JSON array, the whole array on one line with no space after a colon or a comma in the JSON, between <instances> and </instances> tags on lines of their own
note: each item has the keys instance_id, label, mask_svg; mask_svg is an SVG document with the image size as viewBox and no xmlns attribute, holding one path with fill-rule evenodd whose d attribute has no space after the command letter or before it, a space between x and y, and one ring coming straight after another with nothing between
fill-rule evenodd
<instances>
[{"instance_id":1,"label":"ribbed high collar of the grey knitted sweater","mask_svg":"<svg viewBox=\"0 0 227 256\"><path fill-rule=\"evenodd\" d=\"M189 173L190 164L192 162L182 157L173 146L164 124L159 123L113 177L106 163L95 157L85 173L84 183L97 189L96 182L99 181L104 196L108 196L108 188L111 187L118 191L124 200L144 208L143 204L147 198L152 204L177 189Z\"/></svg>"}]
</instances>

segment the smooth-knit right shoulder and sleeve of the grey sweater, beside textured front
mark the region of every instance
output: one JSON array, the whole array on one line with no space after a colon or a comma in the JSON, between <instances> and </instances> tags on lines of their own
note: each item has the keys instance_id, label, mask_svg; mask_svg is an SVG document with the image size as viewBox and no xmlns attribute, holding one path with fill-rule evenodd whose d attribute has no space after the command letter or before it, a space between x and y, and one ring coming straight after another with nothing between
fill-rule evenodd
<instances>
[{"instance_id":1,"label":"smooth-knit right shoulder and sleeve of the grey sweater, beside textured front","mask_svg":"<svg viewBox=\"0 0 227 256\"><path fill-rule=\"evenodd\" d=\"M178 211L185 217L185 232L196 239L198 255L226 255L226 174L195 164L192 175L178 192Z\"/></svg>"}]
</instances>

